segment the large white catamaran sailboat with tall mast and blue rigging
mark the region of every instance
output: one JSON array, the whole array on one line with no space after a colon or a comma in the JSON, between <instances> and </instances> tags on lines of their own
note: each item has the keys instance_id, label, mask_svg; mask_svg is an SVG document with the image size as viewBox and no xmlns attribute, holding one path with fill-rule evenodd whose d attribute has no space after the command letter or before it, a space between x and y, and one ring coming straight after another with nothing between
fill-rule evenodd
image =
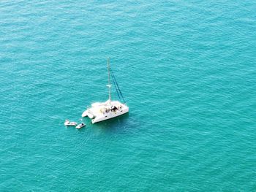
<instances>
[{"instance_id":1,"label":"large white catamaran sailboat with tall mast and blue rigging","mask_svg":"<svg viewBox=\"0 0 256 192\"><path fill-rule=\"evenodd\" d=\"M123 99L124 103L121 101L112 101L111 100L111 84L110 84L110 75L113 80L113 84L116 88L116 93L119 99ZM121 93L121 90L118 86L116 81L116 77L113 74L113 70L110 69L110 61L108 58L108 100L105 102L95 102L91 104L91 107L88 107L82 114L82 117L89 117L91 118L92 123L98 123L102 120L108 120L111 118L116 118L120 115L124 115L125 113L129 112L129 107L127 106L124 96Z\"/></svg>"}]
</instances>

